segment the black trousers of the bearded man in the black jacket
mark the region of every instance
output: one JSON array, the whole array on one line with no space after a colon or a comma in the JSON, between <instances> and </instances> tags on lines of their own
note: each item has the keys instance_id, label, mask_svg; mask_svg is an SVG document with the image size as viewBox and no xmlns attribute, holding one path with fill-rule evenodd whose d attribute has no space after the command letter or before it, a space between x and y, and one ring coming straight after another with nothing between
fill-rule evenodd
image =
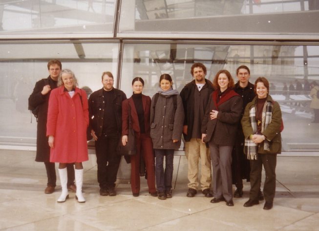
<instances>
[{"instance_id":1,"label":"black trousers of the bearded man in the black jacket","mask_svg":"<svg viewBox=\"0 0 319 231\"><path fill-rule=\"evenodd\" d=\"M95 141L98 182L100 188L114 188L121 156L116 154L119 137L102 135Z\"/></svg>"}]
</instances>

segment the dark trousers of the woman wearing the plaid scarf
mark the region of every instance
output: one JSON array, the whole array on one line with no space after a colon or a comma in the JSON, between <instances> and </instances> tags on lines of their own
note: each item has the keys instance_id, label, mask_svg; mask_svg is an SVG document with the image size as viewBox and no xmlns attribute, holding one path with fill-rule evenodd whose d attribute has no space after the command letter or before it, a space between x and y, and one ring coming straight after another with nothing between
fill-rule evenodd
<instances>
[{"instance_id":1,"label":"dark trousers of the woman wearing the plaid scarf","mask_svg":"<svg viewBox=\"0 0 319 231\"><path fill-rule=\"evenodd\" d=\"M258 200L260 189L261 171L264 166L266 178L264 183L264 196L266 202L273 202L276 193L276 163L277 154L260 154L257 160L250 160L250 195L251 200Z\"/></svg>"}]
</instances>

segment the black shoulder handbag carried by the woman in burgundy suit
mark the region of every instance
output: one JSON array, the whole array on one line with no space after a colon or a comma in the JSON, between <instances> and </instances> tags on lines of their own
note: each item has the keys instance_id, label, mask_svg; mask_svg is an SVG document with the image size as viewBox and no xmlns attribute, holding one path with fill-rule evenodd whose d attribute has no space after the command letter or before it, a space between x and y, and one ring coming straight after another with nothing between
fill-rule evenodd
<instances>
[{"instance_id":1,"label":"black shoulder handbag carried by the woman in burgundy suit","mask_svg":"<svg viewBox=\"0 0 319 231\"><path fill-rule=\"evenodd\" d=\"M135 145L135 131L132 128L132 118L131 110L128 105L128 142L126 146L122 144L122 139L119 140L117 146L117 154L121 156L131 156L136 154L136 145Z\"/></svg>"}]
</instances>

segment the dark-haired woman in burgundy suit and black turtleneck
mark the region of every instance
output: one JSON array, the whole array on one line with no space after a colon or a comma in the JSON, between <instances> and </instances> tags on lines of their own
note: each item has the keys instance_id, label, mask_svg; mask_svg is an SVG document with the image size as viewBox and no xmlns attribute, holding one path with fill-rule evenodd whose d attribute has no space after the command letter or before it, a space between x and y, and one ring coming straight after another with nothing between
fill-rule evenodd
<instances>
[{"instance_id":1,"label":"dark-haired woman in burgundy suit and black turtleneck","mask_svg":"<svg viewBox=\"0 0 319 231\"><path fill-rule=\"evenodd\" d=\"M149 193L157 196L155 188L154 154L149 133L150 97L142 94L144 80L136 77L132 81L133 95L122 103L122 143L128 142L129 112L135 131L136 154L131 159L131 189L133 196L140 194L141 160L145 162Z\"/></svg>"}]
</instances>

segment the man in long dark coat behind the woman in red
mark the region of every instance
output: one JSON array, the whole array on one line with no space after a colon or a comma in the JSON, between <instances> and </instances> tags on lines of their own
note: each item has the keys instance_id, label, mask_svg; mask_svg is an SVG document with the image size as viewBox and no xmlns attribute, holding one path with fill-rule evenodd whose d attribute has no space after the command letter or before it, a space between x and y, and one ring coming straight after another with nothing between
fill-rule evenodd
<instances>
[{"instance_id":1,"label":"man in long dark coat behind the woman in red","mask_svg":"<svg viewBox=\"0 0 319 231\"><path fill-rule=\"evenodd\" d=\"M49 97L51 90L58 86L58 79L62 70L62 63L59 60L50 60L47 63L49 77L38 81L29 97L29 108L38 107L38 124L37 124L37 162L44 162L46 175L48 178L45 194L54 192L56 187L55 163L50 162L50 147L46 137L46 118L49 106ZM67 188L75 192L74 185L74 168L73 164L67 165Z\"/></svg>"}]
</instances>

